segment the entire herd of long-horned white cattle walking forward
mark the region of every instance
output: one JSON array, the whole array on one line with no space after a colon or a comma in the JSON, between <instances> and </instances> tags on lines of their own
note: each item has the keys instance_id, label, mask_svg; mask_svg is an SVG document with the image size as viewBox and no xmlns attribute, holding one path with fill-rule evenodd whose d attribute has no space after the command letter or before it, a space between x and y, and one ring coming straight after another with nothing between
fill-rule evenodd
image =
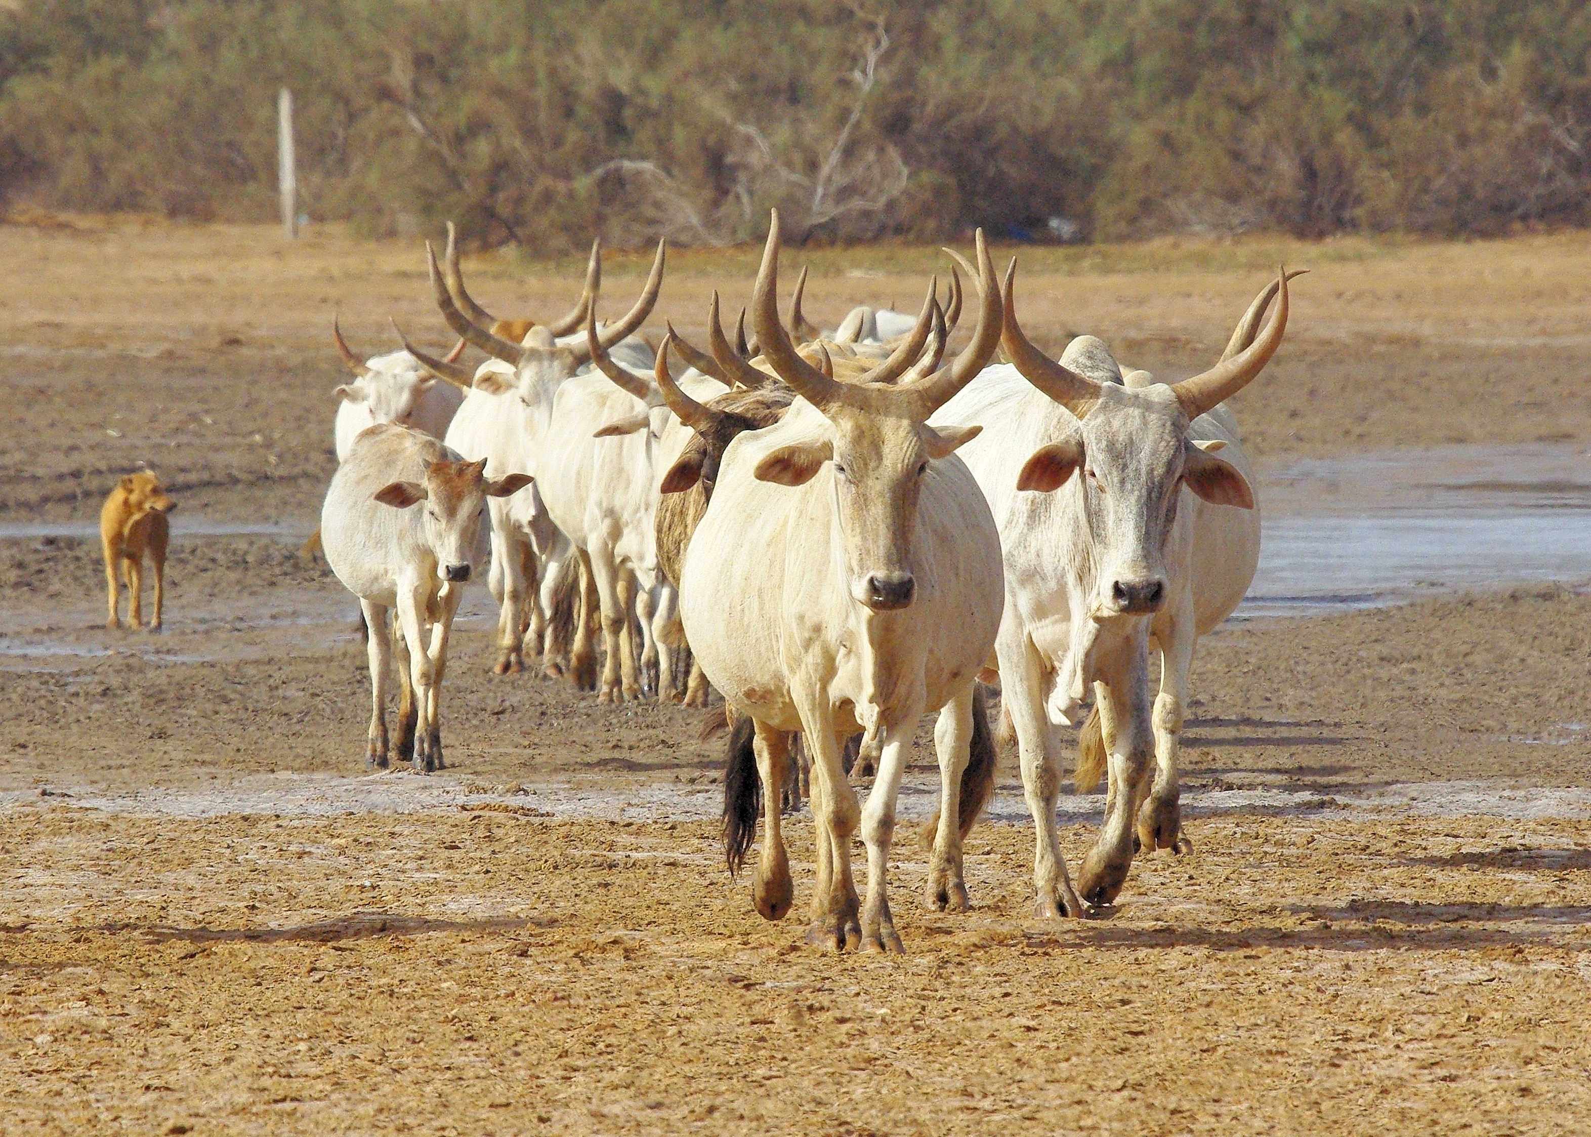
<instances>
[{"instance_id":1,"label":"entire herd of long-horned white cattle walking forward","mask_svg":"<svg viewBox=\"0 0 1591 1137\"><path fill-rule=\"evenodd\" d=\"M966 908L961 842L994 777L980 682L999 682L1017 740L1039 914L1107 905L1139 849L1185 847L1177 748L1193 647L1238 605L1258 557L1249 463L1222 403L1276 354L1295 274L1254 299L1216 366L1161 384L1091 336L1058 361L1037 350L1017 318L1015 261L1001 285L982 232L975 263L951 253L977 312L948 360L955 268L915 320L858 309L837 331L803 317L802 274L786 326L778 215L751 339L741 312L730 341L714 295L706 350L671 326L655 352L636 334L662 287L662 245L613 322L597 312L600 248L574 311L550 323L485 312L452 234L442 266L426 252L461 338L452 354L404 339L361 363L336 336L356 379L337 392L321 541L369 627L372 766L393 747L415 769L442 766L449 629L488 537L496 672L539 658L605 702L722 694L729 860L748 857L760 820L754 898L768 919L792 900L788 787L810 779L815 930L834 947L901 949L886 865L928 710L942 798L924 831L926 900ZM476 369L458 363L466 344L488 357ZM1103 774L1107 798L1074 890L1056 838L1056 728L1090 701L1076 780L1087 790ZM858 755L875 771L866 807L848 780Z\"/></svg>"}]
</instances>

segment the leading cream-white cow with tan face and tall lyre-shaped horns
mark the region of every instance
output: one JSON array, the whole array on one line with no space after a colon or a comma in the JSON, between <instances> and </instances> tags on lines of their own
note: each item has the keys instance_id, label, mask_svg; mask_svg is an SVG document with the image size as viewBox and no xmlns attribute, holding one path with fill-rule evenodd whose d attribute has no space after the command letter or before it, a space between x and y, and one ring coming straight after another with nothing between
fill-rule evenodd
<instances>
[{"instance_id":1,"label":"leading cream-white cow with tan face and tall lyre-shaped horns","mask_svg":"<svg viewBox=\"0 0 1591 1137\"><path fill-rule=\"evenodd\" d=\"M924 424L988 361L1001 303L978 234L983 304L972 344L945 369L901 385L891 381L912 363L905 350L859 382L837 382L802 360L780 325L778 247L775 213L757 274L756 331L802 400L778 425L743 433L724 452L713 502L686 549L681 613L708 678L754 720L767 822L757 911L778 919L791 903L778 791L786 736L802 731L816 774L815 933L834 947L901 951L886 871L918 717L942 709L936 748L943 799L928 884L940 908L966 905L961 831L971 817L961 791L982 798L993 779L986 728L975 761L969 755L982 712L974 680L999 626L999 535L977 483L953 457L977 427L937 432ZM861 729L881 752L866 815L840 760L843 739ZM974 785L964 787L974 768ZM748 782L737 801L732 790ZM732 863L733 826L748 798L756 823L754 788L756 779L732 766ZM850 858L858 822L869 862L861 912ZM741 854L748 842L741 833Z\"/></svg>"}]
</instances>

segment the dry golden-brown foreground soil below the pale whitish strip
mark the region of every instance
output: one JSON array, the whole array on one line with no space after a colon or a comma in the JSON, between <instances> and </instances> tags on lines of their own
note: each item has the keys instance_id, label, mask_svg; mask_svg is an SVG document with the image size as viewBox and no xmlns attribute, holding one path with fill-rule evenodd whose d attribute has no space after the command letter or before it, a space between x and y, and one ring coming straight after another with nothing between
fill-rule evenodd
<instances>
[{"instance_id":1,"label":"dry golden-brown foreground soil below the pale whitish strip","mask_svg":"<svg viewBox=\"0 0 1591 1137\"><path fill-rule=\"evenodd\" d=\"M1109 919L1031 838L908 954L765 924L711 822L14 806L0 1115L29 1132L1569 1132L1585 820L1227 814ZM1090 836L1068 826L1069 855ZM1462 1110L1456 1110L1462 1102ZM186 1126L186 1129L183 1129Z\"/></svg>"}]
</instances>

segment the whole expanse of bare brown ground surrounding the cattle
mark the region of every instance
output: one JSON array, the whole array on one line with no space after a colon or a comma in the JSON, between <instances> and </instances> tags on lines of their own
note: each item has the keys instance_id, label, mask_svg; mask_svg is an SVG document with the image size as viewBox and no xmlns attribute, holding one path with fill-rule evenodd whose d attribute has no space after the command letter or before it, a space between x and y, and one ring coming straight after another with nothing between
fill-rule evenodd
<instances>
[{"instance_id":1,"label":"whole expanse of bare brown ground surrounding the cattle","mask_svg":"<svg viewBox=\"0 0 1591 1137\"><path fill-rule=\"evenodd\" d=\"M1238 408L1266 460L1588 440L1586 244L1025 253L1028 322L1188 371L1265 263L1313 253L1289 346ZM1139 860L1103 919L1034 924L1006 755L969 841L974 911L921 911L904 825L908 955L826 955L799 919L810 823L791 825L797 916L765 924L722 865L702 712L492 677L484 588L447 675L452 769L364 776L355 607L298 543L333 462L331 309L360 344L385 344L388 306L441 339L414 248L91 223L0 226L0 248L37 266L0 303L0 524L91 524L148 460L181 518L275 526L178 535L161 637L103 629L91 538L0 537L5 1132L1523 1134L1591 1116L1583 584L1228 623L1193 672L1193 855ZM929 263L870 255L886 275L816 255L832 272L808 311L904 298ZM665 304L686 323L718 272L749 280L743 253L676 266ZM573 295L568 266L476 268L501 307ZM931 782L920 745L908 817ZM1072 863L1099 801L1063 798Z\"/></svg>"}]
</instances>

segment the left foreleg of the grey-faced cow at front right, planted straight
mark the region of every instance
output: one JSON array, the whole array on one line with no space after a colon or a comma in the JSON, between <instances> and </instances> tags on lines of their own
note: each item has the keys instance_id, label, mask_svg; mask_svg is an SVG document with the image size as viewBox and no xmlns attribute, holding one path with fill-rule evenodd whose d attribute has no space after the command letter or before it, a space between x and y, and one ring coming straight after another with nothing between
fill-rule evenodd
<instances>
[{"instance_id":1,"label":"left foreleg of the grey-faced cow at front right, planted straight","mask_svg":"<svg viewBox=\"0 0 1591 1137\"><path fill-rule=\"evenodd\" d=\"M999 656L1001 707L1017 733L1021 795L1033 814L1033 890L1039 919L1082 916L1061 852L1055 806L1061 796L1061 756L1044 710L1044 661L1017 627Z\"/></svg>"}]
</instances>

